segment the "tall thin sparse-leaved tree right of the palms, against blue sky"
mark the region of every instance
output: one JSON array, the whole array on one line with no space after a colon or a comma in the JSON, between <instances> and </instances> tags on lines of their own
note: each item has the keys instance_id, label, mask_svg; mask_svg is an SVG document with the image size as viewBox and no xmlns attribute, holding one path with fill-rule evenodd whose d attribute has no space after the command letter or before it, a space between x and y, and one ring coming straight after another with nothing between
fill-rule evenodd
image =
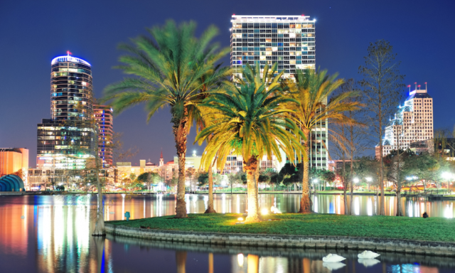
<instances>
[{"instance_id":1,"label":"tall thin sparse-leaved tree right of the palms, against blue sky","mask_svg":"<svg viewBox=\"0 0 455 273\"><path fill-rule=\"evenodd\" d=\"M388 41L379 40L370 43L365 65L360 65L358 73L363 75L360 86L363 87L365 99L365 119L370 127L370 135L379 141L378 159L380 161L380 215L385 215L384 199L384 167L382 164L382 130L386 119L393 114L397 102L401 100L401 90L405 85L395 61L397 54L393 53Z\"/></svg>"}]
</instances>

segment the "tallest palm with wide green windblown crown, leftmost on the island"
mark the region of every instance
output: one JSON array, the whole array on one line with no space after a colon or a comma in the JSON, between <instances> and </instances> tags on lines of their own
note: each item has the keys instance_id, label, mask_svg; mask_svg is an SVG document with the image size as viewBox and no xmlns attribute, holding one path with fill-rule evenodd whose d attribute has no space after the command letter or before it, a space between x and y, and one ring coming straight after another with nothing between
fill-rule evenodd
<instances>
[{"instance_id":1,"label":"tallest palm with wide green windblown crown, leftmost on the island","mask_svg":"<svg viewBox=\"0 0 455 273\"><path fill-rule=\"evenodd\" d=\"M199 92L203 85L213 82L213 73L220 58L228 50L218 50L218 44L210 44L218 34L218 28L210 26L200 38L194 36L196 23L176 26L167 21L162 27L148 28L151 38L139 36L133 45L119 46L129 55L119 60L124 65L117 68L135 77L127 77L105 89L104 101L117 113L139 103L146 104L147 121L163 107L171 109L171 123L178 155L178 184L176 218L186 218L185 203L185 156L186 138L191 127L191 106L200 102ZM203 80L201 80L203 79Z\"/></svg>"}]
</instances>

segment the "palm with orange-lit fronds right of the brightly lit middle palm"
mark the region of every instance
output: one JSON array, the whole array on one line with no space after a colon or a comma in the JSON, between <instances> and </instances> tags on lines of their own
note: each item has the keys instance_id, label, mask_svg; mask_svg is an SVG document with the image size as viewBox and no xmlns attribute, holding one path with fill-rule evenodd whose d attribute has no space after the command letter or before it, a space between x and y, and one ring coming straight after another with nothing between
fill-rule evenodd
<instances>
[{"instance_id":1,"label":"palm with orange-lit fronds right of the brightly lit middle palm","mask_svg":"<svg viewBox=\"0 0 455 273\"><path fill-rule=\"evenodd\" d=\"M291 117L304 133L305 154L302 155L304 167L302 181L302 197L300 200L299 213L311 212L311 199L309 197L309 141L310 132L316 127L321 127L322 122L330 120L338 124L356 124L354 119L346 117L343 112L353 111L360 108L360 102L348 100L350 97L356 97L357 92L343 92L343 94L333 97L327 102L328 97L334 90L343 84L343 79L336 79L338 74L327 75L327 70L298 71L294 75L295 81L285 81L284 85L289 90L289 96L298 101L299 104L292 104L294 112ZM342 137L328 129L328 133L335 135L332 137L336 141ZM325 145L325 144L323 144Z\"/></svg>"}]
</instances>

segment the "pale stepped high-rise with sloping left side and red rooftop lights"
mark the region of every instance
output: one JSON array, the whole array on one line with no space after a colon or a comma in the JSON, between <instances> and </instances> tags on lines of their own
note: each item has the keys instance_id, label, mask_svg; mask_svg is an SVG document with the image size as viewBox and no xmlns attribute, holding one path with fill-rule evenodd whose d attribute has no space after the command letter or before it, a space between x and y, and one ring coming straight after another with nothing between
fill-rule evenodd
<instances>
[{"instance_id":1,"label":"pale stepped high-rise with sloping left side and red rooftop lights","mask_svg":"<svg viewBox=\"0 0 455 273\"><path fill-rule=\"evenodd\" d=\"M428 95L425 82L425 89L417 85L414 91L410 90L405 103L390 117L382 138L382 156L394 149L407 149L414 142L433 139L433 129L433 99ZM378 158L379 145L375 147L375 154Z\"/></svg>"}]
</instances>

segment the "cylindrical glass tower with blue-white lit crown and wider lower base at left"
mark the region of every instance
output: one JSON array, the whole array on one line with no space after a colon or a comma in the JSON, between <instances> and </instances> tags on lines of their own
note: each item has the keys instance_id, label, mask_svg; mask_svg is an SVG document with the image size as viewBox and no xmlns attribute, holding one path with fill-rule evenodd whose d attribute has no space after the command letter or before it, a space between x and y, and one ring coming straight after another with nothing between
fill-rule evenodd
<instances>
[{"instance_id":1,"label":"cylindrical glass tower with blue-white lit crown and wider lower base at left","mask_svg":"<svg viewBox=\"0 0 455 273\"><path fill-rule=\"evenodd\" d=\"M50 114L38 124L38 168L85 168L95 156L90 63L70 55L51 62Z\"/></svg>"}]
</instances>

